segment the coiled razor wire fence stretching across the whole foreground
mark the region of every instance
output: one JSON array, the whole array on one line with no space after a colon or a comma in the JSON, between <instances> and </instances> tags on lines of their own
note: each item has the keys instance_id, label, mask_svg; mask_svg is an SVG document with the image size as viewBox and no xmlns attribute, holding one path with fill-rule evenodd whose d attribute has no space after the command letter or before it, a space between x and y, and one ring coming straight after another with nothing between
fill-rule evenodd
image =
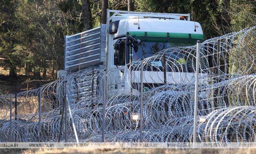
<instances>
[{"instance_id":1,"label":"coiled razor wire fence stretching across the whole foreground","mask_svg":"<svg viewBox=\"0 0 256 154\"><path fill-rule=\"evenodd\" d=\"M256 142L256 27L204 41L200 46L197 141ZM192 142L196 46L168 48L143 61L89 67L42 86L40 141L138 142L143 88L143 142ZM71 111L64 113L66 96ZM39 88L0 94L0 142L37 142ZM67 106L66 106L67 107ZM64 107L65 108L65 107ZM67 117L66 129L65 120ZM63 128L62 128L63 127ZM62 128L62 129L61 129ZM61 131L60 131L61 130ZM65 135L67 138L65 139Z\"/></svg>"}]
</instances>

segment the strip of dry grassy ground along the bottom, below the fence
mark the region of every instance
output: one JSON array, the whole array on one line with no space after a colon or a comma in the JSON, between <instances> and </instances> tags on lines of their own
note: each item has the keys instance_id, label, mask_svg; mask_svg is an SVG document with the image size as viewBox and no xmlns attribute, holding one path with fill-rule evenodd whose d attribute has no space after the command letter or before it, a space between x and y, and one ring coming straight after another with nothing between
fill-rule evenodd
<instances>
[{"instance_id":1,"label":"strip of dry grassy ground along the bottom, below the fence","mask_svg":"<svg viewBox=\"0 0 256 154\"><path fill-rule=\"evenodd\" d=\"M256 149L0 149L0 154L253 154Z\"/></svg>"}]
</instances>

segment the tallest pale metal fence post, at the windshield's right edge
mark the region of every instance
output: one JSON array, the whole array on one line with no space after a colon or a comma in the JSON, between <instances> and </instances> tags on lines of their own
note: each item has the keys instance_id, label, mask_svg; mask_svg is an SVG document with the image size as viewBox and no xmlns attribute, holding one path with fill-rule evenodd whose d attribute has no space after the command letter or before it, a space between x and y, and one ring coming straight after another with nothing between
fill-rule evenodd
<instances>
[{"instance_id":1,"label":"tallest pale metal fence post, at the windshield's right edge","mask_svg":"<svg viewBox=\"0 0 256 154\"><path fill-rule=\"evenodd\" d=\"M198 82L199 82L200 45L201 45L200 41L197 41L193 148L195 148L195 143L197 142L197 106L198 106Z\"/></svg>"}]
</instances>

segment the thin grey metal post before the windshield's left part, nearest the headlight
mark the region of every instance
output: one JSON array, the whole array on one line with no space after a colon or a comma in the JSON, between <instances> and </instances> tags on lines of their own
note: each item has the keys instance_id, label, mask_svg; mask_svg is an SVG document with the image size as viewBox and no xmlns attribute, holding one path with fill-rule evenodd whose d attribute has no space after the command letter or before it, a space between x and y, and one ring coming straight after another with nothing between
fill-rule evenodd
<instances>
[{"instance_id":1,"label":"thin grey metal post before the windshield's left part, nearest the headlight","mask_svg":"<svg viewBox=\"0 0 256 154\"><path fill-rule=\"evenodd\" d=\"M139 142L142 142L142 107L143 106L143 59L140 66L140 119L139 119Z\"/></svg>"}]
</instances>

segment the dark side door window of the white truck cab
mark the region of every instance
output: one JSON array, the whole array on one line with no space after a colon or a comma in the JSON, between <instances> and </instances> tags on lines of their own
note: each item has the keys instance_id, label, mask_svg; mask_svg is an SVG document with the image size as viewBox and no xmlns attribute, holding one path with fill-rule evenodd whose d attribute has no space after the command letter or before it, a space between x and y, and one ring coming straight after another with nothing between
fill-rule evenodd
<instances>
[{"instance_id":1,"label":"dark side door window of the white truck cab","mask_svg":"<svg viewBox=\"0 0 256 154\"><path fill-rule=\"evenodd\" d=\"M119 39L114 44L114 65L125 65L125 40Z\"/></svg>"}]
</instances>

